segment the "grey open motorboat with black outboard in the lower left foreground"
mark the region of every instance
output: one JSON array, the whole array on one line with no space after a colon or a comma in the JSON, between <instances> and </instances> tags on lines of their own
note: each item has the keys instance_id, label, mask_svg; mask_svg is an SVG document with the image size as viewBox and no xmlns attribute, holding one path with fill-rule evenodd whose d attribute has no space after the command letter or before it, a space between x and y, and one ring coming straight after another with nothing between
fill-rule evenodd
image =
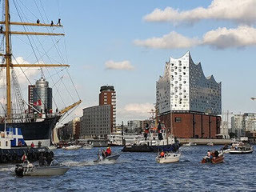
<instances>
[{"instance_id":1,"label":"grey open motorboat with black outboard in the lower left foreground","mask_svg":"<svg viewBox=\"0 0 256 192\"><path fill-rule=\"evenodd\" d=\"M70 168L61 166L56 160L50 163L50 166L37 166L30 162L16 165L15 174L18 177L23 176L55 176L65 174Z\"/></svg>"}]
</instances>

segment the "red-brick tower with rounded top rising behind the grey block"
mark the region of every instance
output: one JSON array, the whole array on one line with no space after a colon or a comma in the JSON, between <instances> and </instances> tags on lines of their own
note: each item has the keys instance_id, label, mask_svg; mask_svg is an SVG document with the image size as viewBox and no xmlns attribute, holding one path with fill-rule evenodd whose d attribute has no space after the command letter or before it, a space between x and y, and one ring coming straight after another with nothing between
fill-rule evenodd
<instances>
[{"instance_id":1,"label":"red-brick tower with rounded top rising behind the grey block","mask_svg":"<svg viewBox=\"0 0 256 192\"><path fill-rule=\"evenodd\" d=\"M114 86L101 86L99 106L110 105L111 133L116 126L116 94Z\"/></svg>"}]
</instances>

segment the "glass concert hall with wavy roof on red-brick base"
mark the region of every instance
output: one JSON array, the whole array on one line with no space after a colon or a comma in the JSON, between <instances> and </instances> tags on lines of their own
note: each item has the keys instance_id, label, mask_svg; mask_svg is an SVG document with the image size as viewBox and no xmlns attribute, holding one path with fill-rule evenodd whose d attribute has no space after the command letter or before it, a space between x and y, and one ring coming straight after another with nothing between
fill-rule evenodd
<instances>
[{"instance_id":1,"label":"glass concert hall with wavy roof on red-brick base","mask_svg":"<svg viewBox=\"0 0 256 192\"><path fill-rule=\"evenodd\" d=\"M217 138L222 114L222 84L206 78L201 63L188 51L166 62L156 82L156 107L161 122L178 138Z\"/></svg>"}]
</instances>

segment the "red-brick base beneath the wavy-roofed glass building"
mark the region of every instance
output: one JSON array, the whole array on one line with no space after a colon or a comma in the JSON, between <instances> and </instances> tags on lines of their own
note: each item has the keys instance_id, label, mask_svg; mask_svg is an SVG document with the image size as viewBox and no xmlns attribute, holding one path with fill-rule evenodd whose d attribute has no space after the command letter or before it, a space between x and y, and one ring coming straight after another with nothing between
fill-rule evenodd
<instances>
[{"instance_id":1,"label":"red-brick base beneath the wavy-roofed glass building","mask_svg":"<svg viewBox=\"0 0 256 192\"><path fill-rule=\"evenodd\" d=\"M169 130L172 123L172 133L177 138L217 138L220 133L221 117L217 115L173 111L161 114L159 120Z\"/></svg>"}]
</instances>

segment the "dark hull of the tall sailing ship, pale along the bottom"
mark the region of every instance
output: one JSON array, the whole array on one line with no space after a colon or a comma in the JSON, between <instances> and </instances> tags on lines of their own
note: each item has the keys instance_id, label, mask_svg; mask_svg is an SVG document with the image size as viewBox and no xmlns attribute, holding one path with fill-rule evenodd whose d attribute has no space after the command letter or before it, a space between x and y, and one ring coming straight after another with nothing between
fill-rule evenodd
<instances>
[{"instance_id":1,"label":"dark hull of the tall sailing ship, pale along the bottom","mask_svg":"<svg viewBox=\"0 0 256 192\"><path fill-rule=\"evenodd\" d=\"M42 142L42 146L50 146L51 131L59 118L58 116L45 118L42 122L6 123L6 127L21 128L27 146L30 146L32 142L34 145L38 145L39 141ZM4 129L5 125L1 123L0 131Z\"/></svg>"}]
</instances>

